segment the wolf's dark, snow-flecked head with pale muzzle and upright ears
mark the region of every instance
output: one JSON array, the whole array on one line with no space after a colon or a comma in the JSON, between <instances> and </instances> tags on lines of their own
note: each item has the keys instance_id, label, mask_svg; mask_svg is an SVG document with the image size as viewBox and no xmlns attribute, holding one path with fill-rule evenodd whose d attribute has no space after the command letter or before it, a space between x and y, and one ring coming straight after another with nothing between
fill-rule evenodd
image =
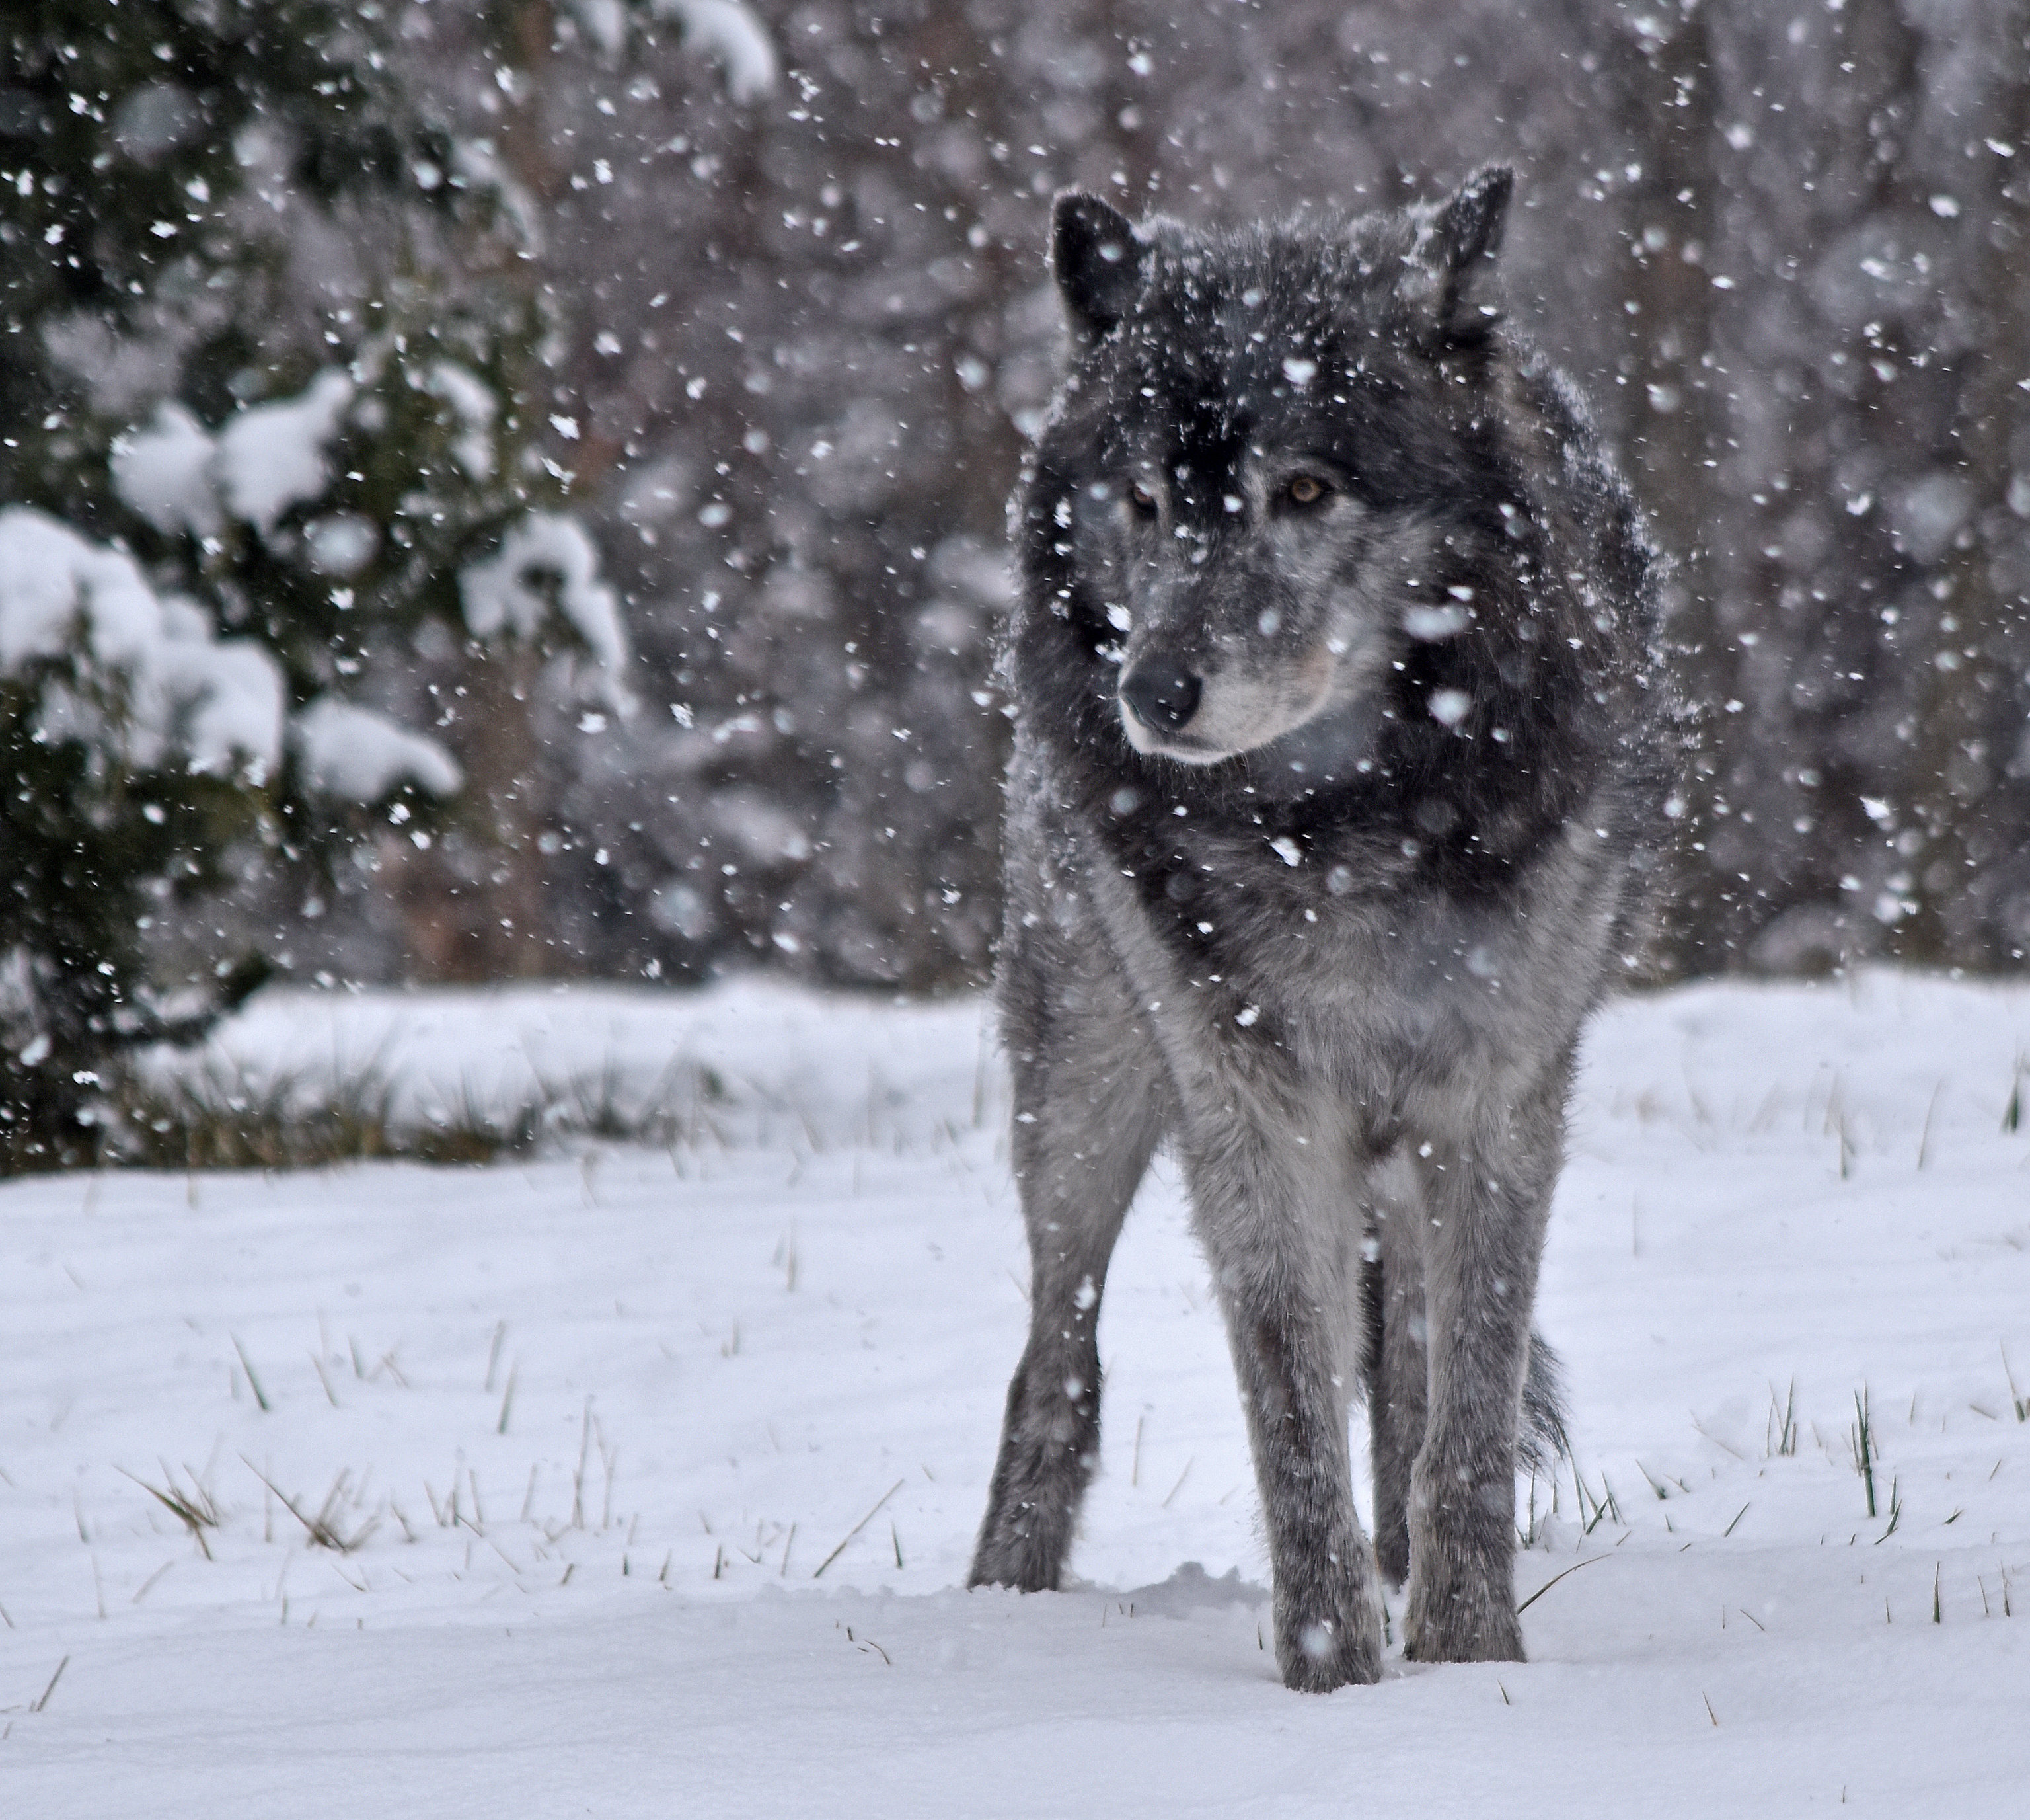
<instances>
[{"instance_id":1,"label":"wolf's dark, snow-flecked head with pale muzzle and upright ears","mask_svg":"<svg viewBox=\"0 0 2030 1820\"><path fill-rule=\"evenodd\" d=\"M1496 167L1439 203L1238 232L1058 199L1078 364L1029 552L1119 664L1137 752L1210 766L1287 741L1352 764L1405 648L1496 609L1484 295L1510 187ZM1433 691L1429 711L1466 705Z\"/></svg>"}]
</instances>

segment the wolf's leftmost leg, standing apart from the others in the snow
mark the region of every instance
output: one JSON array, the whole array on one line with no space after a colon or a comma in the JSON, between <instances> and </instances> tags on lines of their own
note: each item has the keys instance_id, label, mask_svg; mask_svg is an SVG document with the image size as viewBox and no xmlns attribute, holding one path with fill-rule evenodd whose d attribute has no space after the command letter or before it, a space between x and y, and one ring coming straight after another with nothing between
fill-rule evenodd
<instances>
[{"instance_id":1,"label":"wolf's leftmost leg, standing apart from the others in the snow","mask_svg":"<svg viewBox=\"0 0 2030 1820\"><path fill-rule=\"evenodd\" d=\"M1009 1005L1029 1343L1009 1383L974 1586L1054 1590L1100 1446L1100 1292L1163 1129L1163 1070L1114 981ZM1070 1003L1068 1003L1070 999Z\"/></svg>"}]
</instances>

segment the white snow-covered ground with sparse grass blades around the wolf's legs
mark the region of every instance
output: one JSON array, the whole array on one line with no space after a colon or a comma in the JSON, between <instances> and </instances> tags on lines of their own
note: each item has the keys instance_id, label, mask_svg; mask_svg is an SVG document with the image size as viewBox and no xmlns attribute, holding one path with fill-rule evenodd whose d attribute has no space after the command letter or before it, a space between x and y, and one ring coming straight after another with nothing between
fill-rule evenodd
<instances>
[{"instance_id":1,"label":"white snow-covered ground with sparse grass blades around the wolf's legs","mask_svg":"<svg viewBox=\"0 0 2030 1820\"><path fill-rule=\"evenodd\" d=\"M1299 1698L1167 1172L1108 1286L1082 1586L960 1590L1023 1328L976 1003L268 995L215 1066L686 1117L0 1188L0 1804L2022 1814L2026 1048L2030 993L1896 975L1602 1018L1541 1302L1585 1495L1518 1599L1585 1566L1529 1666Z\"/></svg>"}]
</instances>

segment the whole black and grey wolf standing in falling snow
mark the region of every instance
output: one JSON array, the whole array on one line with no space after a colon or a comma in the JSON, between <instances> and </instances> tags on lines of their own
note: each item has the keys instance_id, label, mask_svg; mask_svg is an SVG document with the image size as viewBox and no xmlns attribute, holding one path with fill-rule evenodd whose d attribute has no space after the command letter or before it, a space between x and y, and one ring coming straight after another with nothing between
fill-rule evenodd
<instances>
[{"instance_id":1,"label":"whole black and grey wolf standing in falling snow","mask_svg":"<svg viewBox=\"0 0 2030 1820\"><path fill-rule=\"evenodd\" d=\"M1060 1584L1106 1265L1167 1140L1311 1692L1376 1678L1378 1576L1409 1658L1522 1658L1573 1054L1673 806L1659 559L1494 301L1512 183L1218 232L1062 195L1070 364L1011 504L997 997L1033 1288L970 1580Z\"/></svg>"}]
</instances>

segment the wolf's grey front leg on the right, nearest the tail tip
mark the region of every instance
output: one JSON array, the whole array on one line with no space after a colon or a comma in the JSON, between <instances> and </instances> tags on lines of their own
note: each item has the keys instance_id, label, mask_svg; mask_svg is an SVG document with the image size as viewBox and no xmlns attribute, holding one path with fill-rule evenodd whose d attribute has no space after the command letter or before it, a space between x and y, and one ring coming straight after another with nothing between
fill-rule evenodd
<instances>
[{"instance_id":1,"label":"wolf's grey front leg on the right, nearest the tail tip","mask_svg":"<svg viewBox=\"0 0 2030 1820\"><path fill-rule=\"evenodd\" d=\"M1439 1150L1427 1178L1431 1406L1411 1473L1403 1621L1403 1653L1417 1662L1522 1660L1516 1430L1561 1154L1557 1103L1514 1113L1500 1142Z\"/></svg>"}]
</instances>

